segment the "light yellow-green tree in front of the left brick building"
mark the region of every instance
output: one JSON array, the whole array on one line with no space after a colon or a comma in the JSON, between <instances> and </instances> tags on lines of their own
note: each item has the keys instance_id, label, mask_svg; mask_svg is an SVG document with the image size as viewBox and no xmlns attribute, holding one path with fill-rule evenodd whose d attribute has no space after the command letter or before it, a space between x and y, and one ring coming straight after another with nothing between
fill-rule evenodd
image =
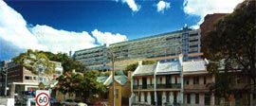
<instances>
[{"instance_id":1,"label":"light yellow-green tree in front of the left brick building","mask_svg":"<svg viewBox=\"0 0 256 106\"><path fill-rule=\"evenodd\" d=\"M22 64L34 74L38 74L39 68L44 68L46 74L55 72L55 64L50 62L44 53L37 50L28 49L27 52L13 58L12 61Z\"/></svg>"}]
</instances>

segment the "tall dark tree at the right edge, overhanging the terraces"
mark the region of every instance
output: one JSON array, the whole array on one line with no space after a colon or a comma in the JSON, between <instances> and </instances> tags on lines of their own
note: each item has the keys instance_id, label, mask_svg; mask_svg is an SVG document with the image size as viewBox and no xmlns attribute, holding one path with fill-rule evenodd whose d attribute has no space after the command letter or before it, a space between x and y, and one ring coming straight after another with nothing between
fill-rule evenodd
<instances>
[{"instance_id":1,"label":"tall dark tree at the right edge, overhanging the terraces","mask_svg":"<svg viewBox=\"0 0 256 106\"><path fill-rule=\"evenodd\" d=\"M202 40L203 52L210 60L208 71L220 79L213 87L219 94L230 92L233 79L233 74L228 74L230 70L241 71L241 76L256 84L255 14L255 1L247 0L219 20ZM220 69L224 74L220 74Z\"/></svg>"}]
</instances>

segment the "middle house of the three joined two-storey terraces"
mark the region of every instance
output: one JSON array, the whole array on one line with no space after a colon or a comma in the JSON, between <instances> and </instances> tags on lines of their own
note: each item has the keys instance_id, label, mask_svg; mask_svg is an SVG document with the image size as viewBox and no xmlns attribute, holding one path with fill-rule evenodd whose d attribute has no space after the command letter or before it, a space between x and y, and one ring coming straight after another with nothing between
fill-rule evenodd
<instances>
[{"instance_id":1,"label":"middle house of the three joined two-storey terraces","mask_svg":"<svg viewBox=\"0 0 256 106\"><path fill-rule=\"evenodd\" d=\"M157 63L155 68L157 105L182 103L182 77L179 62Z\"/></svg>"}]
</instances>

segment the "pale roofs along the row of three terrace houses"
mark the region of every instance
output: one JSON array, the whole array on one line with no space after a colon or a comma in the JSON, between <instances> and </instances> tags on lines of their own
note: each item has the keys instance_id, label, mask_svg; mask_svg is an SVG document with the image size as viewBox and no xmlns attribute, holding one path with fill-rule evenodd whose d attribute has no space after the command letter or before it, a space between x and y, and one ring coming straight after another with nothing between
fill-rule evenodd
<instances>
[{"instance_id":1,"label":"pale roofs along the row of three terrace houses","mask_svg":"<svg viewBox=\"0 0 256 106\"><path fill-rule=\"evenodd\" d=\"M207 72L207 61L200 60L195 62L157 62L150 65L138 65L133 76L166 75L166 74L198 74Z\"/></svg>"}]
</instances>

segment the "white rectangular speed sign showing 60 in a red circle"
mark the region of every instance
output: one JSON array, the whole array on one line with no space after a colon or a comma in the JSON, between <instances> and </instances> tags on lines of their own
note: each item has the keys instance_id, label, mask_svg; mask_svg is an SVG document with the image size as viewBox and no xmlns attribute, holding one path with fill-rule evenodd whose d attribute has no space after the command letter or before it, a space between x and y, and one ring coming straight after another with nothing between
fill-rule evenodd
<instances>
[{"instance_id":1,"label":"white rectangular speed sign showing 60 in a red circle","mask_svg":"<svg viewBox=\"0 0 256 106\"><path fill-rule=\"evenodd\" d=\"M49 91L37 90L35 101L36 101L36 106L49 106L49 101L50 101Z\"/></svg>"}]
</instances>

